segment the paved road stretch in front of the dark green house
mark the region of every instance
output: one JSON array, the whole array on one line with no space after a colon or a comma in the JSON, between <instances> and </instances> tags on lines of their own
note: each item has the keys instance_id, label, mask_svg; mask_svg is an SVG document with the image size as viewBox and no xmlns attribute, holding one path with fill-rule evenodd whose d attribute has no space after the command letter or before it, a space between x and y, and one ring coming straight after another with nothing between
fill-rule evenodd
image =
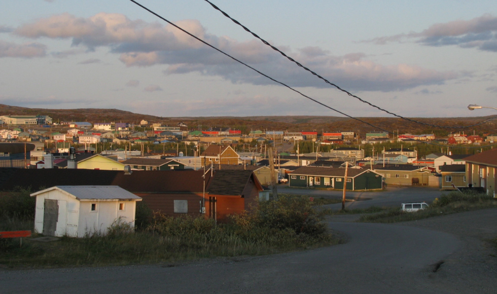
<instances>
[{"instance_id":1,"label":"paved road stretch in front of the dark green house","mask_svg":"<svg viewBox=\"0 0 497 294\"><path fill-rule=\"evenodd\" d=\"M337 190L319 190L319 189L302 189L278 186L278 193L309 195L313 197L325 197L342 199L342 191ZM370 206L394 206L400 207L401 203L406 202L431 202L440 197L443 192L436 188L429 187L388 187L386 190L373 192L353 192L347 191L346 198L355 200L347 202L345 207L348 209L367 208ZM341 204L328 205L332 209L341 209Z\"/></svg>"}]
</instances>

